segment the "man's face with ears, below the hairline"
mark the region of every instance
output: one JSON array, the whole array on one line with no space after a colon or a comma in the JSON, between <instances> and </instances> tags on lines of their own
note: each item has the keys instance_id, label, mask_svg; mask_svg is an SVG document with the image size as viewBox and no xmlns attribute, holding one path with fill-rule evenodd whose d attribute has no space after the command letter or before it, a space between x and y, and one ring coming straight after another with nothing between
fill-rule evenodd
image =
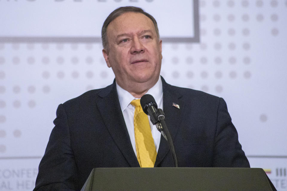
<instances>
[{"instance_id":1,"label":"man's face with ears, below the hairline","mask_svg":"<svg viewBox=\"0 0 287 191\"><path fill-rule=\"evenodd\" d=\"M120 86L158 81L161 41L152 20L141 13L124 13L108 25L107 39L109 48L103 56Z\"/></svg>"}]
</instances>

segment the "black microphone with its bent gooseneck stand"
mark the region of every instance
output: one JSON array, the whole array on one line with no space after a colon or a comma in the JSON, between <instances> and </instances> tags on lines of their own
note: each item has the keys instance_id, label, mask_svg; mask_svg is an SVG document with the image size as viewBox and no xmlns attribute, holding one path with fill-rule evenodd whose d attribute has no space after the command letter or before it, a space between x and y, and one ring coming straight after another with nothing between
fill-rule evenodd
<instances>
[{"instance_id":1,"label":"black microphone with its bent gooseneck stand","mask_svg":"<svg viewBox=\"0 0 287 191\"><path fill-rule=\"evenodd\" d=\"M152 124L156 126L161 135L167 140L170 151L172 153L172 158L174 162L174 166L178 167L178 161L175 154L175 149L173 146L172 138L170 136L170 132L167 129L167 125L165 123L165 116L162 109L158 108L158 105L155 102L155 98L152 95L145 94L141 97L141 107L143 108L144 113L150 116L150 121Z\"/></svg>"}]
</instances>

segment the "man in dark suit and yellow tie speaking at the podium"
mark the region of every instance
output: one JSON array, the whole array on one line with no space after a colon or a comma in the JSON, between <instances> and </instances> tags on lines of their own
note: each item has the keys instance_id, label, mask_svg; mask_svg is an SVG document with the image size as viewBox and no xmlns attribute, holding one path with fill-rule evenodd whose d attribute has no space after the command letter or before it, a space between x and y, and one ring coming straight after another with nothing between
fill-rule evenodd
<instances>
[{"instance_id":1,"label":"man in dark suit and yellow tie speaking at the podium","mask_svg":"<svg viewBox=\"0 0 287 191\"><path fill-rule=\"evenodd\" d=\"M103 24L102 40L115 81L59 105L35 190L80 190L94 167L144 167L131 101L146 93L164 110L179 167L250 167L225 101L159 76L162 41L151 15L116 9ZM173 167L167 141L152 124L149 133L152 166Z\"/></svg>"}]
</instances>

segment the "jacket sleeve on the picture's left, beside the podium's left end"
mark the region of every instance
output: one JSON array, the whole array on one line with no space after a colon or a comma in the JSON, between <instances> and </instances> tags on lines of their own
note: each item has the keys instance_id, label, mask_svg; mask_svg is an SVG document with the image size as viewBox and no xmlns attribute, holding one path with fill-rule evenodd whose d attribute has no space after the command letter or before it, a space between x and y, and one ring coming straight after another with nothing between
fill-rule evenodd
<instances>
[{"instance_id":1,"label":"jacket sleeve on the picture's left, beside the podium's left end","mask_svg":"<svg viewBox=\"0 0 287 191\"><path fill-rule=\"evenodd\" d=\"M62 104L57 109L55 127L39 164L34 190L77 190L77 167L70 144L68 119Z\"/></svg>"}]
</instances>

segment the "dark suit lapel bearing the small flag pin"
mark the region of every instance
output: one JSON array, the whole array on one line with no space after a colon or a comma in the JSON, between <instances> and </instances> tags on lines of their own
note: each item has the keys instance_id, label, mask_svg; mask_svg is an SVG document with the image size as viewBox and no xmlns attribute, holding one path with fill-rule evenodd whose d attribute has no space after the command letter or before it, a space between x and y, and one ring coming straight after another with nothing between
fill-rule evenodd
<instances>
[{"instance_id":1,"label":"dark suit lapel bearing the small flag pin","mask_svg":"<svg viewBox=\"0 0 287 191\"><path fill-rule=\"evenodd\" d=\"M176 91L176 89L171 85L167 84L162 77L161 80L163 88L163 109L165 114L165 122L172 137L172 141L174 141L178 131L178 126L181 122L181 112L184 109L184 105L183 103L181 103L181 95ZM178 104L180 109L172 106L172 103ZM161 163L169 150L170 148L167 143L167 140L165 140L163 136L161 136L158 154L155 161L155 167L157 167Z\"/></svg>"}]
</instances>

